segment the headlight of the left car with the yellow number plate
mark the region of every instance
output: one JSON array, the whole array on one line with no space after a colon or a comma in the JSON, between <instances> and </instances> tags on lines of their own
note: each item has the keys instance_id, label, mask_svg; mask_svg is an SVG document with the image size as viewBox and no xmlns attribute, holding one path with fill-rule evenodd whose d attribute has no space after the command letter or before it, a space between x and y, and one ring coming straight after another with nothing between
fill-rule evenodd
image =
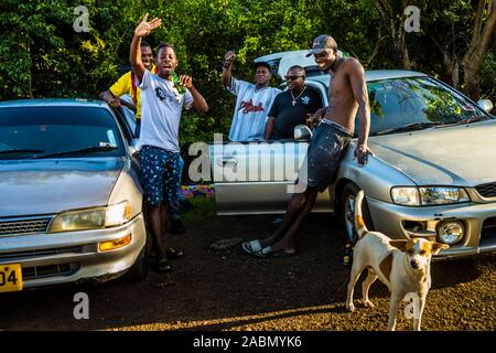
<instances>
[{"instance_id":1,"label":"headlight of the left car with the yellow number plate","mask_svg":"<svg viewBox=\"0 0 496 353\"><path fill-rule=\"evenodd\" d=\"M68 211L57 215L48 233L101 229L122 225L131 220L131 204L127 201L106 207Z\"/></svg>"}]
</instances>

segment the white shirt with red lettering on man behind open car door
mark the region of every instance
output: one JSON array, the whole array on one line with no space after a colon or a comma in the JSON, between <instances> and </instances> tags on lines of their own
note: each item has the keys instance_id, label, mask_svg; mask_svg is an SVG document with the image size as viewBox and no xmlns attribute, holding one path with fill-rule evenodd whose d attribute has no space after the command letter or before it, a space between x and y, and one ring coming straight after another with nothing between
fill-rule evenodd
<instances>
[{"instance_id":1,"label":"white shirt with red lettering on man behind open car door","mask_svg":"<svg viewBox=\"0 0 496 353\"><path fill-rule=\"evenodd\" d=\"M254 84L234 77L230 81L230 89L227 89L237 96L229 140L263 140L267 114L281 90L273 87L256 89Z\"/></svg>"}]
</instances>

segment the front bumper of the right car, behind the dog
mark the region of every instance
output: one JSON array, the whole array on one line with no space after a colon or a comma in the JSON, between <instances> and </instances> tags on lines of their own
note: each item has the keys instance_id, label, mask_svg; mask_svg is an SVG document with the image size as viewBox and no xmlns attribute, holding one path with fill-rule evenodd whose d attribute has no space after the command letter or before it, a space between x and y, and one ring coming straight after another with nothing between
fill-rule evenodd
<instances>
[{"instance_id":1,"label":"front bumper of the right car, behind the dog","mask_svg":"<svg viewBox=\"0 0 496 353\"><path fill-rule=\"evenodd\" d=\"M429 207L406 207L367 197L367 204L377 231L395 238L410 237L406 221L424 222L427 229L435 232L443 221L461 221L465 237L450 246L438 257L457 257L496 250L496 203L459 204Z\"/></svg>"}]
</instances>

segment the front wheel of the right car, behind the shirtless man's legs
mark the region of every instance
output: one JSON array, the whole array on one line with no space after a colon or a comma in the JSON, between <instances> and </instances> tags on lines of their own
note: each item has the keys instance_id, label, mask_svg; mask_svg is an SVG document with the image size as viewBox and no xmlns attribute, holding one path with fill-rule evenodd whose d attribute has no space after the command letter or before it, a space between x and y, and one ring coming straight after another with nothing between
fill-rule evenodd
<instances>
[{"instance_id":1,"label":"front wheel of the right car, behind the shirtless man's legs","mask_svg":"<svg viewBox=\"0 0 496 353\"><path fill-rule=\"evenodd\" d=\"M360 189L354 183L347 183L343 188L339 200L339 228L343 233L345 240L355 245L358 240L358 235L355 229L355 199ZM362 213L364 216L365 225L369 231L374 231L374 224L371 222L370 211L368 210L367 200L364 199L362 204Z\"/></svg>"}]
</instances>

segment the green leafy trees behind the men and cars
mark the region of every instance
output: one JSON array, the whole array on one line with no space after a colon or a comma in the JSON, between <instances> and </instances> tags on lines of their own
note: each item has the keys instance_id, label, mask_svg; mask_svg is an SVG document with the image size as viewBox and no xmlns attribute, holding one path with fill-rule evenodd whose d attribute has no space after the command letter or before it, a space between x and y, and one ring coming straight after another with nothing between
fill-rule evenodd
<instances>
[{"instance_id":1,"label":"green leafy trees behind the men and cars","mask_svg":"<svg viewBox=\"0 0 496 353\"><path fill-rule=\"evenodd\" d=\"M471 0L420 1L421 33L408 34L418 71L442 77L439 53L430 35L454 44L459 56L467 46L474 15ZM74 8L89 11L89 32L76 33ZM399 11L400 2L395 4ZM388 24L370 0L18 0L0 2L0 99L25 97L94 97L129 69L129 44L145 12L162 25L145 40L177 50L179 74L190 74L209 111L186 113L181 124L183 151L193 141L227 133L235 98L220 84L224 54L235 50L234 75L252 81L255 57L308 49L317 34L333 35L338 46L367 68L392 68L398 58ZM454 34L450 31L454 29ZM451 36L450 36L451 35ZM454 40L453 40L454 38ZM482 69L483 96L495 95L494 44ZM277 84L277 83L273 83Z\"/></svg>"}]
</instances>

